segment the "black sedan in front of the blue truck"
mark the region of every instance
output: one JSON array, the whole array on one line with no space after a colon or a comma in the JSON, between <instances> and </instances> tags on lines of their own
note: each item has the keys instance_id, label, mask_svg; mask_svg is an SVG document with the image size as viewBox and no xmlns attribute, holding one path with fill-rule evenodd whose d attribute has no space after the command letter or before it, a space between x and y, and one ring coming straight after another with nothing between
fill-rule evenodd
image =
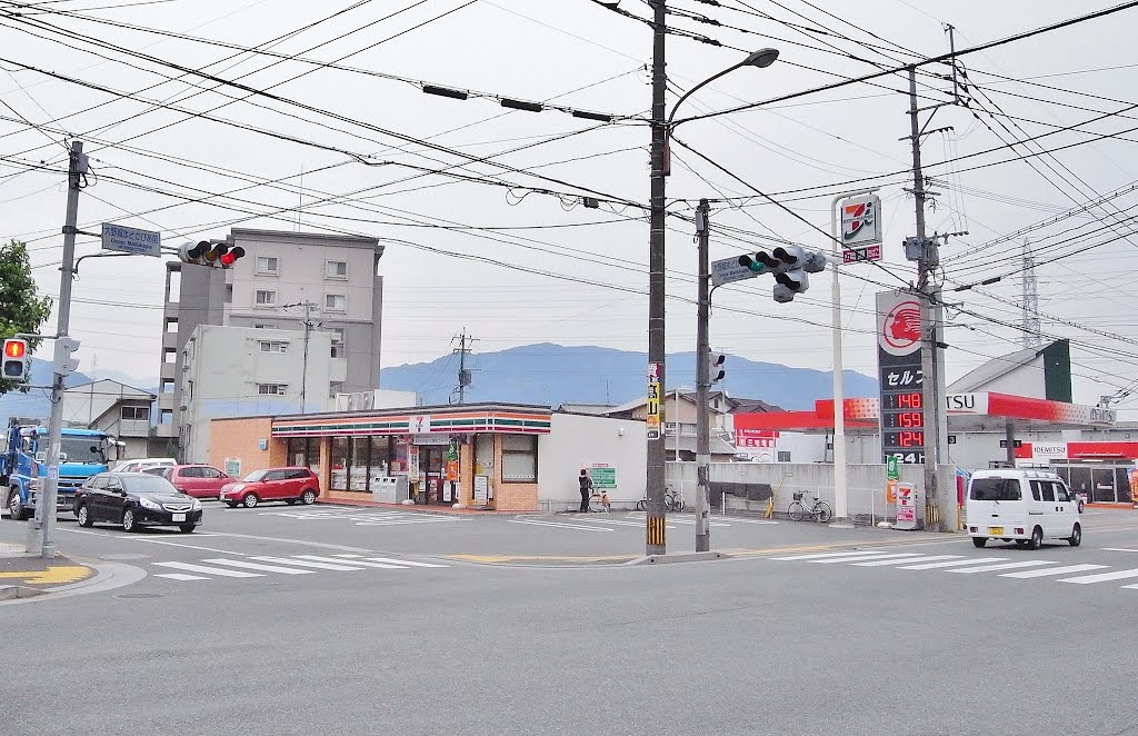
<instances>
[{"instance_id":1,"label":"black sedan in front of the blue truck","mask_svg":"<svg viewBox=\"0 0 1138 736\"><path fill-rule=\"evenodd\" d=\"M74 512L80 526L109 522L127 532L152 525L178 526L189 533L201 523L198 499L146 473L92 475L75 493Z\"/></svg>"}]
</instances>

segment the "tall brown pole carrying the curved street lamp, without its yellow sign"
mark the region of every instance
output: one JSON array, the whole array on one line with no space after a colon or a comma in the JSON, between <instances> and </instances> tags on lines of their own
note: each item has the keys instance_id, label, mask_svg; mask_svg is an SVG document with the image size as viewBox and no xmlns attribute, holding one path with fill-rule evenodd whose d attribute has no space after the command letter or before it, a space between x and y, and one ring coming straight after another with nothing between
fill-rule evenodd
<instances>
[{"instance_id":1,"label":"tall brown pole carrying the curved street lamp, without its yellow sign","mask_svg":"<svg viewBox=\"0 0 1138 736\"><path fill-rule=\"evenodd\" d=\"M665 74L665 0L650 0L654 9L652 25L652 193L651 235L649 238L648 361L653 366L661 389L665 379L665 171L663 152L667 137L665 113L668 79ZM662 393L662 392L661 392ZM662 396L660 396L662 398ZM665 538L665 433L648 440L648 515L645 518L646 555L667 553Z\"/></svg>"}]
</instances>

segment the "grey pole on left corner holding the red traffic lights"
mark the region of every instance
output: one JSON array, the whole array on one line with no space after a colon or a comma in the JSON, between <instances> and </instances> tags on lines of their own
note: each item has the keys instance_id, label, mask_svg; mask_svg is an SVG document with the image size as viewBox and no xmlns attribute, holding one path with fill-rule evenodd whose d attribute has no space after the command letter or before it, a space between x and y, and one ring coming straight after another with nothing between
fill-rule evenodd
<instances>
[{"instance_id":1,"label":"grey pole on left corner holding the red traffic lights","mask_svg":"<svg viewBox=\"0 0 1138 736\"><path fill-rule=\"evenodd\" d=\"M69 164L67 166L67 213L64 223L64 253L59 265L59 314L56 325L55 371L51 377L51 416L48 419L48 477L43 492L39 494L35 505L35 516L28 522L28 549L34 551L35 531L41 532L39 540L40 556L51 559L56 556L56 498L59 492L59 452L60 430L63 425L64 400L64 361L69 360L65 345L67 329L71 324L71 289L75 277L75 226L79 222L79 191L86 175L86 156L83 155L83 142L74 141L71 146Z\"/></svg>"}]
</instances>

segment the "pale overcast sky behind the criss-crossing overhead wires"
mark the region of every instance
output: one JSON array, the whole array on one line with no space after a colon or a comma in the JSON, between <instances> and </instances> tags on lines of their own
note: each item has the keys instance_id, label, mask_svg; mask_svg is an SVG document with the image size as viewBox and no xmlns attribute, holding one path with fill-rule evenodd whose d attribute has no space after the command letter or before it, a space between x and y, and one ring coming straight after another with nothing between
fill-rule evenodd
<instances>
[{"instance_id":1,"label":"pale overcast sky behind the criss-crossing overhead wires","mask_svg":"<svg viewBox=\"0 0 1138 736\"><path fill-rule=\"evenodd\" d=\"M670 35L668 75L675 89L686 90L734 64L745 49L775 47L780 60L704 88L677 117L867 74L879 68L875 64L893 67L914 58L910 51L943 54L943 23L956 26L960 50L1114 5L720 1L721 7L669 2L724 24L671 16L676 28L723 43ZM232 226L386 240L385 366L445 354L462 328L479 341L476 351L544 341L646 349L649 229L644 212L633 204L649 198L650 134L636 120L651 101L648 25L592 0L151 0L83 10L124 2L61 0L25 7L16 18L25 3L0 1L0 222L6 236L28 243L43 293L55 295L59 287L66 190L58 172L66 167L66 131L85 141L94 167L80 205L88 230L105 221L156 229L174 246L224 237ZM651 13L643 0L624 0L620 8L641 17ZM80 17L57 13L66 9ZM822 10L848 16L860 27ZM926 174L940 193L927 211L930 230L967 231L942 248L946 289L1015 272L1023 235L992 242L1056 219L1028 237L1038 262L1042 328L1072 338L1075 400L1083 403L1127 387L1138 365L1138 322L1131 317L1138 292L1130 286L1138 236L1129 236L1138 193L1061 216L1138 180L1138 133L1127 132L1138 118L1129 101L1138 97L1136 27L1138 10L1125 10L964 56L970 106L938 111L929 128L950 130L927 136L923 147ZM924 68L931 74L918 77L921 104L950 100L951 82L934 76L948 67ZM488 96L434 97L417 82ZM846 367L868 375L875 373L873 294L880 284L894 287L914 278L900 245L915 231L913 198L905 191L912 187L904 173L912 165L909 144L900 140L909 132L904 90L902 76L885 76L874 85L848 84L686 122L677 137L747 185L679 146L668 181L669 210L677 214L690 215L700 197L731 199L712 212L712 259L773 245L770 238L827 248L816 228L828 230L832 197L880 186L884 268L863 264L842 278L850 330ZM553 109L511 112L496 96L622 120L602 124ZM158 101L172 108L157 108ZM1085 121L1094 122L1063 130ZM1048 132L1014 152L1006 147ZM1120 136L1082 145L1108 133ZM1070 147L1030 157L1030 164L983 166L1039 153L1039 146ZM470 156L495 163L470 164ZM943 163L951 160L959 161ZM47 165L30 169L39 162ZM445 169L463 179L423 169ZM496 186L502 182L516 186ZM756 198L751 187L774 195L816 228ZM587 194L633 204L586 208L580 195ZM667 347L690 351L693 228L679 216L669 220L668 294L674 299ZM1094 246L1088 254L1078 253L1087 246ZM81 238L80 254L97 251L91 238ZM770 287L770 279L754 279L717 291L712 344L752 359L830 369L828 275L815 276L809 293L792 304L775 304ZM71 332L83 341L83 369L124 371L142 385L156 382L162 288L163 267L155 259L82 263ZM949 295L973 312L950 312L949 379L1019 346L1021 333L999 322L1019 322L1020 289L1015 275L982 291Z\"/></svg>"}]
</instances>

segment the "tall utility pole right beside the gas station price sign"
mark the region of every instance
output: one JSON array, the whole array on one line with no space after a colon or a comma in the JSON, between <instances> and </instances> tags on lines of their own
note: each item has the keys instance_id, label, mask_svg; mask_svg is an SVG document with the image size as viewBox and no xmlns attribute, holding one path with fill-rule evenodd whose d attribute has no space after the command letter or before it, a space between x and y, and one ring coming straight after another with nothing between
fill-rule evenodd
<instances>
[{"instance_id":1,"label":"tall utility pole right beside the gas station price sign","mask_svg":"<svg viewBox=\"0 0 1138 736\"><path fill-rule=\"evenodd\" d=\"M925 239L924 220L924 174L921 172L921 121L917 114L917 73L916 67L909 67L909 131L913 145L913 197L916 202L917 240L921 243L921 260L917 263L917 291L921 296L921 394L924 407L924 481L925 505L937 508L937 456L940 453L938 435L940 434L939 398L937 395L937 366L933 354L937 345L937 329L932 324L933 295L929 292L929 276L940 264L940 253L935 240ZM940 531L940 523L934 522L927 528Z\"/></svg>"}]
</instances>

